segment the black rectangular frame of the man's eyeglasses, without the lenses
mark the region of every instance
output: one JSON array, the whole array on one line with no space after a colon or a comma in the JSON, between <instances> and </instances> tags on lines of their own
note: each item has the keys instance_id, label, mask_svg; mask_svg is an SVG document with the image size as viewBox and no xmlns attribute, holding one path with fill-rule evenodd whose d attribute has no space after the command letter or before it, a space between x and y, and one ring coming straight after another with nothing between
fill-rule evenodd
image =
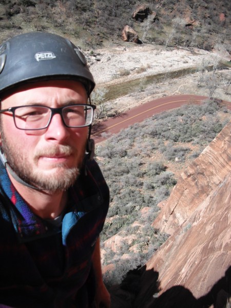
<instances>
[{"instance_id":1,"label":"black rectangular frame of the man's eyeglasses, without the lenses","mask_svg":"<svg viewBox=\"0 0 231 308\"><path fill-rule=\"evenodd\" d=\"M63 109L67 108L67 107L71 107L71 106L83 106L83 107L91 107L92 110L92 119L91 119L91 123L90 124L85 124L85 125L79 125L79 126L69 126L65 123L64 119L63 119ZM20 128L17 127L16 125L16 121L15 121L15 110L18 108L22 108L22 107L43 107L43 108L48 108L51 110L51 114L50 114L50 118L48 120L48 123L45 127L43 128ZM52 108L49 106L43 106L43 105L24 105L24 106L15 106L15 107L9 107L7 109L2 109L0 110L0 113L4 113L4 112L12 112L13 113L13 119L14 119L14 125L17 129L21 129L21 130L41 130L41 129L45 129L50 125L50 122L53 118L54 114L60 114L62 122L64 124L64 126L68 127L68 128L81 128L81 127L87 127L90 126L92 124L92 120L93 120L93 115L94 115L94 110L95 110L96 106L95 105L91 105L91 104L71 104L71 105L65 105L59 108Z\"/></svg>"}]
</instances>

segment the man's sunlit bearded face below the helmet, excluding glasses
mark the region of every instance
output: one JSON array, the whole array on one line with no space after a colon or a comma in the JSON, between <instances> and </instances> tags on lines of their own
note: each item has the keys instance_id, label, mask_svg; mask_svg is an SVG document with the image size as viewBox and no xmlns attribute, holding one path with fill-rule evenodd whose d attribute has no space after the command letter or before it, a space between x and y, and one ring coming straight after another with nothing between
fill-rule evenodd
<instances>
[{"instance_id":1,"label":"man's sunlit bearded face below the helmet, excluding glasses","mask_svg":"<svg viewBox=\"0 0 231 308\"><path fill-rule=\"evenodd\" d=\"M76 81L49 81L20 88L2 101L6 109L23 105L62 107L86 104L87 94ZM20 130L12 115L1 115L0 142L11 168L27 183L43 190L66 190L79 174L88 127L68 128L60 114L42 130Z\"/></svg>"}]
</instances>

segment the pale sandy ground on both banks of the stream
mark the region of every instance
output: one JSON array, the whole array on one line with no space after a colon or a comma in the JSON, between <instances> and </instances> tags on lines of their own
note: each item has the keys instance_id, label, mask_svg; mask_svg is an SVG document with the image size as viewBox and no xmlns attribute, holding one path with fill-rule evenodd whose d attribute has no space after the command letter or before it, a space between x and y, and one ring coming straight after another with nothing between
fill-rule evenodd
<instances>
[{"instance_id":1,"label":"pale sandy ground on both banks of the stream","mask_svg":"<svg viewBox=\"0 0 231 308\"><path fill-rule=\"evenodd\" d=\"M209 52L202 49L192 48L166 50L164 47L151 44L124 43L121 46L108 46L105 49L94 51L94 55L88 57L90 70L97 83L97 88L107 85L123 83L137 78L145 78L168 71L177 71L183 68L197 67L198 72L182 76L178 79L166 80L165 82L148 86L146 89L129 93L125 97L118 98L112 104L115 108L126 110L138 104L173 94L199 94L209 95L209 90L198 87L198 80L202 76L202 68L216 65L219 60L227 61L230 55L224 52ZM129 75L123 75L129 72ZM231 70L219 72L225 78L231 79ZM206 76L211 73L205 71ZM214 97L230 101L229 93L217 88Z\"/></svg>"}]
</instances>

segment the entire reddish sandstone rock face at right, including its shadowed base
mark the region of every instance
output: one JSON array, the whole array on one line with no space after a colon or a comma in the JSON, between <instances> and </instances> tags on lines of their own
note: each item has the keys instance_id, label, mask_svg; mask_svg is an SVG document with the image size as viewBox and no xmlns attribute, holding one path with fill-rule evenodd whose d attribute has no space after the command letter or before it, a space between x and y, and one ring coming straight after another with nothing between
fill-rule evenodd
<instances>
[{"instance_id":1,"label":"entire reddish sandstone rock face at right, including its shadowed base","mask_svg":"<svg viewBox=\"0 0 231 308\"><path fill-rule=\"evenodd\" d=\"M156 219L171 236L143 268L133 307L230 307L230 131L231 122L183 172Z\"/></svg>"}]
</instances>

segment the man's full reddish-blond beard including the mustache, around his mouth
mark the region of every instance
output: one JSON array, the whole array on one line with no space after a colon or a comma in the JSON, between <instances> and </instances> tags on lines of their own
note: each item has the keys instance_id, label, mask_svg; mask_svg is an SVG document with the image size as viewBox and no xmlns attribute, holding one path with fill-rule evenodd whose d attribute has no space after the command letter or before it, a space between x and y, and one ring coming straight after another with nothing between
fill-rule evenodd
<instances>
[{"instance_id":1,"label":"man's full reddish-blond beard including the mustache, around his mouth","mask_svg":"<svg viewBox=\"0 0 231 308\"><path fill-rule=\"evenodd\" d=\"M7 155L7 163L13 169L18 177L24 182L35 186L38 189L55 192L60 190L67 190L73 186L76 178L80 174L80 169L85 155L85 148L77 152L69 145L52 145L50 147L37 150L33 157L34 164L28 162L27 158L22 151L22 147L14 147L9 144L5 138L2 130L2 150ZM73 155L76 157L75 166L68 167L66 163L56 163L52 165L49 170L34 170L37 166L38 160L43 156Z\"/></svg>"}]
</instances>

